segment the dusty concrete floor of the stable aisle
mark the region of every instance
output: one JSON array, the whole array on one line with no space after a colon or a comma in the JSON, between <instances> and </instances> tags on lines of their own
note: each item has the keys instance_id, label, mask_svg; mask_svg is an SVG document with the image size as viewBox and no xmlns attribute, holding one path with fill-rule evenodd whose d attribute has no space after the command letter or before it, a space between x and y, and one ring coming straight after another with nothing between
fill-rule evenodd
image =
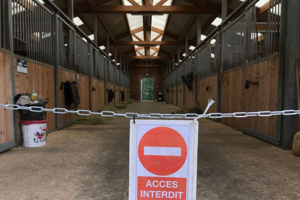
<instances>
[{"instance_id":1,"label":"dusty concrete floor of the stable aisle","mask_svg":"<svg viewBox=\"0 0 300 200\"><path fill-rule=\"evenodd\" d=\"M162 102L121 112L170 113ZM39 148L0 153L0 199L127 199L129 120L75 124ZM300 157L207 119L199 120L197 199L300 199Z\"/></svg>"}]
</instances>

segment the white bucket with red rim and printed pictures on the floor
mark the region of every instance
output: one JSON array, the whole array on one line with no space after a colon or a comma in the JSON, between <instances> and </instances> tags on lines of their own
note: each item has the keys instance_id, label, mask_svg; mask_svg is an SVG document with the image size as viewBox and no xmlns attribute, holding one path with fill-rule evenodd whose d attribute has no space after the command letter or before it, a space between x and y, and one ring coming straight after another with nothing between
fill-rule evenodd
<instances>
[{"instance_id":1,"label":"white bucket with red rim and printed pictures on the floor","mask_svg":"<svg viewBox=\"0 0 300 200\"><path fill-rule=\"evenodd\" d=\"M21 120L24 147L38 147L46 144L47 119Z\"/></svg>"}]
</instances>

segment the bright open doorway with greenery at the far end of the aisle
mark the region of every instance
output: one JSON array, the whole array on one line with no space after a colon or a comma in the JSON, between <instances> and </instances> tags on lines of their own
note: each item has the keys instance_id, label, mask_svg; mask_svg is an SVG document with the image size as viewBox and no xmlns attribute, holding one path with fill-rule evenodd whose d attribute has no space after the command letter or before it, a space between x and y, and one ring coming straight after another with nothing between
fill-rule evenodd
<instances>
[{"instance_id":1,"label":"bright open doorway with greenery at the far end of the aisle","mask_svg":"<svg viewBox=\"0 0 300 200\"><path fill-rule=\"evenodd\" d=\"M153 101L154 99L154 78L140 79L140 99L144 101Z\"/></svg>"}]
</instances>

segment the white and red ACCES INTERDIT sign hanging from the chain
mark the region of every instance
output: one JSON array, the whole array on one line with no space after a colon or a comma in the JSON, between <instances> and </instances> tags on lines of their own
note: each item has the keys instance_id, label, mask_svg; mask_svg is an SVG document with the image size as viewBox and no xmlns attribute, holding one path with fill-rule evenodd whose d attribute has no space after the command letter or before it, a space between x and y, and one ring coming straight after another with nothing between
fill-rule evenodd
<instances>
[{"instance_id":1,"label":"white and red ACCES INTERDIT sign hanging from the chain","mask_svg":"<svg viewBox=\"0 0 300 200\"><path fill-rule=\"evenodd\" d=\"M198 122L130 121L129 200L196 199Z\"/></svg>"}]
</instances>

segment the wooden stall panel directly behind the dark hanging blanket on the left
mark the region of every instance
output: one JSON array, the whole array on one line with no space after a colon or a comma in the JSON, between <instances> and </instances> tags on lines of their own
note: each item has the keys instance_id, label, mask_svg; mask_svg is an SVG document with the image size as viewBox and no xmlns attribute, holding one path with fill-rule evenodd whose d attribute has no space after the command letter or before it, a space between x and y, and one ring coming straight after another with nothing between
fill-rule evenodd
<instances>
[{"instance_id":1,"label":"wooden stall panel directly behind the dark hanging blanket on the left","mask_svg":"<svg viewBox=\"0 0 300 200\"><path fill-rule=\"evenodd\" d=\"M68 71L66 69L60 68L58 70L58 82L65 82L65 81L75 81L75 77L76 74L75 72L72 71ZM78 88L79 89L79 88ZM80 99L81 100L81 99ZM81 103L81 102L80 102ZM70 109L69 107L67 107L64 104L64 93L63 93L63 89L59 89L58 91L58 105L57 107L65 107L67 109ZM72 113L66 113L66 114L58 114L58 120L59 120L59 124L63 124L66 123L68 121L71 120L75 120L76 119L76 115L72 114Z\"/></svg>"}]
</instances>

